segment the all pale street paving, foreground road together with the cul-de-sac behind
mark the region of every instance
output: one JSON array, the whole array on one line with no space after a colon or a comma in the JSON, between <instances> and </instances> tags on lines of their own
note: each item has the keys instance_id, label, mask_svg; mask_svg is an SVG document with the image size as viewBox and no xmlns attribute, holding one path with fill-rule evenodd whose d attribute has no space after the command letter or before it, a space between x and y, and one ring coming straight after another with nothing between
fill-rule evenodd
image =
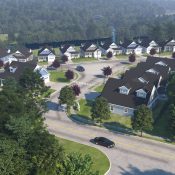
<instances>
[{"instance_id":1,"label":"all pale street paving, foreground road together with the cul-de-sac behind","mask_svg":"<svg viewBox=\"0 0 175 175\"><path fill-rule=\"evenodd\" d=\"M126 65L120 62L83 64L86 71L76 81L82 91L80 98L87 98L88 94L92 93L90 87L104 81L104 78L100 77L102 75L101 69L104 66L111 66L113 72L125 70L126 67L124 68L124 66ZM76 67L76 65L69 66L71 68ZM58 92L64 85L61 83L52 84ZM45 123L48 130L58 137L100 149L108 156L111 162L109 175L175 174L175 146L72 121L64 112L57 110L58 92L54 93L48 102L49 111L45 114ZM90 139L98 136L111 139L115 142L116 147L107 149L92 144Z\"/></svg>"}]
</instances>

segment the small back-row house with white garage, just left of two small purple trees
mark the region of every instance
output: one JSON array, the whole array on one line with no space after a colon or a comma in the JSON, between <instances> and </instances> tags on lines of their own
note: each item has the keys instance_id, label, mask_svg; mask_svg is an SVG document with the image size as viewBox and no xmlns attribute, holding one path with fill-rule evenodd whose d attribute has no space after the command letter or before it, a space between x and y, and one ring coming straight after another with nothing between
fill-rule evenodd
<instances>
[{"instance_id":1,"label":"small back-row house with white garage, just left of two small purple trees","mask_svg":"<svg viewBox=\"0 0 175 175\"><path fill-rule=\"evenodd\" d=\"M52 63L55 60L55 51L49 47L43 47L38 51L38 61Z\"/></svg>"}]
</instances>

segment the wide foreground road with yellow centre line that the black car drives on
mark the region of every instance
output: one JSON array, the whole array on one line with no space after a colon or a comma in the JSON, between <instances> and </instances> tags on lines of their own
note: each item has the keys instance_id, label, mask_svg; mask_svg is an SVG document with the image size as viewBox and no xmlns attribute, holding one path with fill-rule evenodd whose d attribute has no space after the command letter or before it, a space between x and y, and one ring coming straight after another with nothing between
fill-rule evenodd
<instances>
[{"instance_id":1,"label":"wide foreground road with yellow centre line that the black car drives on","mask_svg":"<svg viewBox=\"0 0 175 175\"><path fill-rule=\"evenodd\" d=\"M50 133L103 151L111 162L109 175L175 174L174 146L76 123L57 111L56 98L52 102L51 110L45 114ZM113 140L116 147L108 149L90 143L97 136Z\"/></svg>"}]
</instances>

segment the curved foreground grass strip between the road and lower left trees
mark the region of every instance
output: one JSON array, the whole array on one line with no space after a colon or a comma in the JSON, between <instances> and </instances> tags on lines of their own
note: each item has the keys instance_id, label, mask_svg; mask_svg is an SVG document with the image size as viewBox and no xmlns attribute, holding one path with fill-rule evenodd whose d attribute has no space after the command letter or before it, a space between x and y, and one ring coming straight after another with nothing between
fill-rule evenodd
<instances>
[{"instance_id":1,"label":"curved foreground grass strip between the road and lower left trees","mask_svg":"<svg viewBox=\"0 0 175 175\"><path fill-rule=\"evenodd\" d=\"M81 153L82 155L85 154L90 155L93 161L92 170L94 172L99 171L100 175L104 175L108 170L110 166L109 160L107 156L103 154L101 151L97 150L96 148L72 142L69 140L61 138L58 138L58 140L59 143L63 145L66 153L78 152Z\"/></svg>"}]
</instances>

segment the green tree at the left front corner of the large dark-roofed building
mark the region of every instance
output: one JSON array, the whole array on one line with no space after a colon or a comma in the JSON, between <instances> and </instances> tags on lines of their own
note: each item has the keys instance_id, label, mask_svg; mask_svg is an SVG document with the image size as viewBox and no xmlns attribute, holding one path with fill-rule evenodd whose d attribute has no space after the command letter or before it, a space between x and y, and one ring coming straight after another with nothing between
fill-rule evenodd
<instances>
[{"instance_id":1,"label":"green tree at the left front corner of the large dark-roofed building","mask_svg":"<svg viewBox=\"0 0 175 175\"><path fill-rule=\"evenodd\" d=\"M104 97L97 97L92 106L92 118L97 119L100 123L101 121L110 118L110 107L107 100Z\"/></svg>"}]
</instances>

